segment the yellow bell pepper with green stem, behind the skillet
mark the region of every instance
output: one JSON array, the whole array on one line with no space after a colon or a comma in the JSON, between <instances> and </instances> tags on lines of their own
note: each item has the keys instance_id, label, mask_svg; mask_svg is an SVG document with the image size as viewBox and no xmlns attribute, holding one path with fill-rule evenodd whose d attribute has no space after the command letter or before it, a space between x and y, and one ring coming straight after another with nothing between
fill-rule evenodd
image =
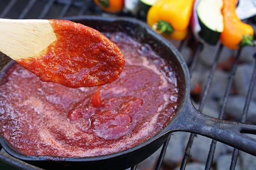
<instances>
[{"instance_id":1,"label":"yellow bell pepper with green stem, behind the skillet","mask_svg":"<svg viewBox=\"0 0 256 170\"><path fill-rule=\"evenodd\" d=\"M194 0L158 0L148 11L147 23L157 33L175 40L187 35Z\"/></svg>"}]
</instances>

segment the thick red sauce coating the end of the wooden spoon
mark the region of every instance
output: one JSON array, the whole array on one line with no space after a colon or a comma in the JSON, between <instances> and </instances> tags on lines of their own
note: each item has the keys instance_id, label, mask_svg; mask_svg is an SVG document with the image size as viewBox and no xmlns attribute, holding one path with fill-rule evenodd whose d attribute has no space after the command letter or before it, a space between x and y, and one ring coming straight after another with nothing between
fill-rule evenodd
<instances>
[{"instance_id":1,"label":"thick red sauce coating the end of the wooden spoon","mask_svg":"<svg viewBox=\"0 0 256 170\"><path fill-rule=\"evenodd\" d=\"M67 87L111 83L125 64L119 48L97 30L66 20L49 20L56 35L42 54L17 60L41 81Z\"/></svg>"}]
</instances>

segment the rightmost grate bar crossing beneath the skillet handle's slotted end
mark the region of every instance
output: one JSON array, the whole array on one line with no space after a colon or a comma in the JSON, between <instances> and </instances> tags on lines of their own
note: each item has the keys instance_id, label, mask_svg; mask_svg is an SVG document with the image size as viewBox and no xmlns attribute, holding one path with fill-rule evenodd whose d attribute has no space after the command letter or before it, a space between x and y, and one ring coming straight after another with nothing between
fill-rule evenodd
<instances>
[{"instance_id":1,"label":"rightmost grate bar crossing beneath the skillet handle's slotted end","mask_svg":"<svg viewBox=\"0 0 256 170\"><path fill-rule=\"evenodd\" d=\"M256 59L256 54L254 54L254 59ZM241 117L241 122L242 123L246 122L248 109L249 109L249 106L250 106L251 97L252 97L252 94L253 94L253 89L254 89L254 86L255 86L255 82L256 82L256 60L254 61L253 73L251 75L249 89L248 89L246 99L245 99L244 110L243 110L242 117ZM238 152L239 152L239 150L234 148L233 154L232 154L232 159L231 159L231 164L230 164L230 170L234 170L235 167L236 167Z\"/></svg>"}]
</instances>

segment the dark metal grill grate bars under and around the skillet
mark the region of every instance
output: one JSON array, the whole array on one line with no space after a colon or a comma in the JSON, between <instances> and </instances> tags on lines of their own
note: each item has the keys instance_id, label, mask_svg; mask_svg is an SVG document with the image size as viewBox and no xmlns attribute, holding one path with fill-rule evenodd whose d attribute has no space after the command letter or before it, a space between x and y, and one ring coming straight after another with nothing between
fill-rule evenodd
<instances>
[{"instance_id":1,"label":"dark metal grill grate bars under and around the skillet","mask_svg":"<svg viewBox=\"0 0 256 170\"><path fill-rule=\"evenodd\" d=\"M8 1L8 3L6 3ZM5 3L7 5L5 5L5 7L2 9L2 12L0 13L0 18L9 18L7 17L7 15L9 14L9 12L11 12L11 9L14 8L15 5L17 4L23 4L24 2L26 2L26 6L23 8L23 10L21 11L20 14L18 14L17 16L15 16L16 18L19 19L23 19L23 18L47 18L47 16L49 15L49 17L51 18L61 18L61 17L65 17L66 15L68 15L69 10L71 8L74 8L73 10L75 11L76 14L73 15L83 15L83 14L104 14L104 12L101 11L101 9L99 9L98 7L96 7L93 3L92 0L27 0L27 1L23 1L21 2L21 0L6 0ZM37 2L43 2L44 6L40 12L40 14L38 16L27 16L29 11L32 10L33 6L35 5L35 3ZM3 3L3 2L1 2ZM58 5L58 6L62 6L60 11L55 11L55 15L53 14L49 14L51 9L53 8L53 6ZM125 16L129 16L130 14L125 14L125 13L121 13L120 15L125 15ZM15 18L14 17L14 18ZM184 44L186 43L186 41L181 41L180 45L178 46L178 50L181 51ZM195 68L195 64L198 61L198 56L201 52L201 50L203 49L203 44L198 43L197 46L195 47L195 53L193 56L193 60L189 66L189 71L190 71L190 75L192 75L194 68ZM204 85L203 88L203 92L201 95L201 99L200 99L200 104L199 104L199 111L202 111L204 108L204 105L206 104L206 99L207 96L209 94L210 91L210 87L212 84L212 80L215 74L215 71L217 69L217 65L220 59L220 54L222 52L223 46L222 45L218 45L218 49L216 51L215 54L215 58L213 61L213 64L211 66L211 70L210 73L208 75L208 78L206 80L206 84ZM236 54L236 58L235 58L235 62L232 66L232 69L230 70L229 73L229 81L228 81L228 85L226 87L226 91L223 97L223 101L222 101L222 105L221 105L221 109L219 111L219 119L222 119L224 116L224 110L225 107L227 105L228 102L228 98L229 98L229 93L231 90L231 86L233 83L233 79L234 79L234 75L236 72L236 68L238 65L238 60L241 54L241 50L237 51ZM4 54L1 55L1 58L4 56ZM254 59L256 59L256 54L254 55ZM241 122L246 122L246 117L247 117L247 113L248 113L248 108L250 105L250 101L252 98L252 93L253 93L253 89L254 89L254 85L256 82L256 60L254 63L254 68L253 68L253 73L251 76L251 80L250 80L250 85L249 85L249 89L248 89L248 93L246 96L246 101L245 101L245 105L244 105L244 110L242 113L242 118L241 118ZM186 146L186 150L184 152L184 157L181 163L181 170L184 170L186 168L186 164L188 159L191 157L190 156L190 149L192 147L193 144L193 140L194 137L196 137L196 134L190 134L189 137L189 141L187 143ZM171 134L169 135L168 139L165 141L165 143L163 144L161 153L159 155L158 161L157 161L157 165L155 167L156 170L159 170L163 161L163 158L165 156L165 152L169 143L169 140L171 140ZM216 141L212 140L212 144L210 146L210 150L209 150L209 154L208 154L208 158L207 158L207 162L206 162L206 170L209 170L212 162L213 162L213 156L214 156L214 151L215 151L215 146L216 146ZM2 149L2 147L0 146L0 149ZM231 161L231 165L230 165L230 170L234 170L235 166L236 166L236 161L238 159L238 149L234 149L233 150L233 155L232 155L232 161ZM9 161L9 160L15 160L15 161ZM23 162L19 159L16 159L6 153L0 152L0 161L6 163L7 165L13 167L13 168L18 168L18 169L40 169L38 167L35 167L33 165L30 165L26 162ZM15 163L10 163L10 162L15 162ZM131 170L136 170L137 165L131 167Z\"/></svg>"}]
</instances>

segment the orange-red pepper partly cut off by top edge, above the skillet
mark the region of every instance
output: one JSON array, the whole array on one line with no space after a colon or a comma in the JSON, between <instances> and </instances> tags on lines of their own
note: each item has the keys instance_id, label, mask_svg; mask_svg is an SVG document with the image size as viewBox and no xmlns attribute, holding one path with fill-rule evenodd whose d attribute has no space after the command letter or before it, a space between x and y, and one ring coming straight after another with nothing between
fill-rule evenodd
<instances>
[{"instance_id":1,"label":"orange-red pepper partly cut off by top edge, above the skillet","mask_svg":"<svg viewBox=\"0 0 256 170\"><path fill-rule=\"evenodd\" d=\"M94 2L103 10L110 13L117 13L122 11L123 0L94 0Z\"/></svg>"}]
</instances>

